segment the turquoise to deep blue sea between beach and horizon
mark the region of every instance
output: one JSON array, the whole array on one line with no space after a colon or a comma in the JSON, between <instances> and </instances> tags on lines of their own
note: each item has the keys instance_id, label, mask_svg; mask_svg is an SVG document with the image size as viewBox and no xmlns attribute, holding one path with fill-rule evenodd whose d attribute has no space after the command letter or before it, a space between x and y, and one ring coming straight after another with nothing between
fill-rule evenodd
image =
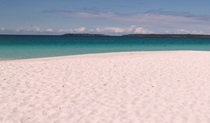
<instances>
[{"instance_id":1,"label":"turquoise to deep blue sea between beach and horizon","mask_svg":"<svg viewBox=\"0 0 210 123\"><path fill-rule=\"evenodd\" d=\"M0 58L6 59L168 50L210 51L210 38L0 35Z\"/></svg>"}]
</instances>

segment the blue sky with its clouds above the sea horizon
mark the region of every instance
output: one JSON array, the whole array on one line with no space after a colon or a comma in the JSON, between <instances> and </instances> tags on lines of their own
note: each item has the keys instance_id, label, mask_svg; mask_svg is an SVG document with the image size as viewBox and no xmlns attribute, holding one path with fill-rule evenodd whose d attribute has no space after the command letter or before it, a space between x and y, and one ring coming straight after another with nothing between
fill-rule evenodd
<instances>
[{"instance_id":1,"label":"blue sky with its clouds above the sea horizon","mask_svg":"<svg viewBox=\"0 0 210 123\"><path fill-rule=\"evenodd\" d=\"M0 0L0 34L210 34L209 0Z\"/></svg>"}]
</instances>

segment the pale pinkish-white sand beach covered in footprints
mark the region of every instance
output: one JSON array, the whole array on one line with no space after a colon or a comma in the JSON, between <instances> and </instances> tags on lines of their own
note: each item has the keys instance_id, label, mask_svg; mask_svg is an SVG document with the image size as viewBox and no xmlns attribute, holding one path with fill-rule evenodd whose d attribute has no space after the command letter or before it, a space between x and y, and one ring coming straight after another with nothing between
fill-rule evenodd
<instances>
[{"instance_id":1,"label":"pale pinkish-white sand beach covered in footprints","mask_svg":"<svg viewBox=\"0 0 210 123\"><path fill-rule=\"evenodd\" d=\"M210 52L0 61L0 123L210 123Z\"/></svg>"}]
</instances>

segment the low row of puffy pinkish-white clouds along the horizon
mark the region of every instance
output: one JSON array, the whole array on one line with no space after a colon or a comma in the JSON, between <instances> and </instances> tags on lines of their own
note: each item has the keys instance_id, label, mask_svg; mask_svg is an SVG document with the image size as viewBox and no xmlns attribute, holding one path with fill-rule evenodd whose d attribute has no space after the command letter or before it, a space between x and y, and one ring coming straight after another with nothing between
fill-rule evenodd
<instances>
[{"instance_id":1,"label":"low row of puffy pinkish-white clouds along the horizon","mask_svg":"<svg viewBox=\"0 0 210 123\"><path fill-rule=\"evenodd\" d=\"M31 27L31 28L19 28L19 29L6 29L4 27L0 27L0 33L6 34L65 34L65 33L94 33L94 34L109 34L109 35L122 35L122 34L154 34L158 32L154 32L144 27L139 27L136 25L131 25L129 27L96 27L96 28L86 28L86 27L78 27L78 28L41 28L39 26ZM170 34L210 34L204 31L196 31L196 30L186 30L186 29L177 29L172 31L165 31L165 33Z\"/></svg>"}]
</instances>

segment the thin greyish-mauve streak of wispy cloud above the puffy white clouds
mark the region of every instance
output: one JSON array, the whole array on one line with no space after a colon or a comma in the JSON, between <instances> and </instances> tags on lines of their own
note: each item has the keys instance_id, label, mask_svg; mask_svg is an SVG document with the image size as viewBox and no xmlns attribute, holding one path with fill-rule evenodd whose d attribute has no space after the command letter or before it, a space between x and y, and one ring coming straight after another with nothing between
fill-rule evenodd
<instances>
[{"instance_id":1,"label":"thin greyish-mauve streak of wispy cloud above the puffy white clouds","mask_svg":"<svg viewBox=\"0 0 210 123\"><path fill-rule=\"evenodd\" d=\"M69 11L69 10L45 10L44 13L56 13L68 17L82 18L108 18L112 20L141 22L145 24L160 23L210 23L210 15L195 15L188 12L171 12L162 10L150 10L144 13L114 13L110 11Z\"/></svg>"}]
</instances>

